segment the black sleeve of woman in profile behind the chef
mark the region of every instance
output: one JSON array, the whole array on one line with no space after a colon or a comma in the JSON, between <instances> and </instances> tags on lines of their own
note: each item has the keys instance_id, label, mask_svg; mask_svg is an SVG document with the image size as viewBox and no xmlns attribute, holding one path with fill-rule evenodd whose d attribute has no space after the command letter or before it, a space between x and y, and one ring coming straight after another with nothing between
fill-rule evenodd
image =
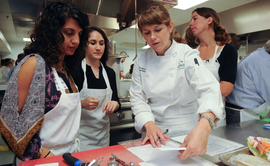
<instances>
[{"instance_id":1,"label":"black sleeve of woman in profile behind the chef","mask_svg":"<svg viewBox=\"0 0 270 166\"><path fill-rule=\"evenodd\" d=\"M220 81L227 81L234 84L236 79L238 59L236 47L230 43L226 43L217 59L220 64L218 69Z\"/></svg>"}]
</instances>

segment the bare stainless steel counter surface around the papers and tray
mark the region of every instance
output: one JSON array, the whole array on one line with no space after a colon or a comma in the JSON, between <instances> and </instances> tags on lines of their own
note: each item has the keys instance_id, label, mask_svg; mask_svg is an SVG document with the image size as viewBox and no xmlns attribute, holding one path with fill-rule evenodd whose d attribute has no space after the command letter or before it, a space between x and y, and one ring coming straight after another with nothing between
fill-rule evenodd
<instances>
[{"instance_id":1,"label":"bare stainless steel counter surface around the papers and tray","mask_svg":"<svg viewBox=\"0 0 270 166\"><path fill-rule=\"evenodd\" d=\"M211 135L225 138L227 140L234 141L237 143L241 143L245 145L245 147L247 147L246 138L248 138L249 136L270 138L270 130L264 129L263 128L264 124L270 123L267 121L255 119L246 122L230 124L227 126L218 127L217 129L213 129ZM218 159L218 157L222 154L213 157L207 154L203 154L200 155L200 157L214 164L224 165L222 161Z\"/></svg>"}]
</instances>

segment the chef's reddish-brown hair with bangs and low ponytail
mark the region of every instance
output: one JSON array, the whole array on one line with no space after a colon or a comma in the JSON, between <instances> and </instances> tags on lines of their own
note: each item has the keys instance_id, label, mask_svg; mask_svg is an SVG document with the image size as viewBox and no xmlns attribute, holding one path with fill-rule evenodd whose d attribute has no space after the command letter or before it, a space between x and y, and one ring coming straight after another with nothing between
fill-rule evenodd
<instances>
[{"instance_id":1,"label":"chef's reddish-brown hair with bangs and low ponytail","mask_svg":"<svg viewBox=\"0 0 270 166\"><path fill-rule=\"evenodd\" d=\"M168 10L161 4L152 4L147 6L142 10L138 17L138 29L142 37L142 27L144 25L152 24L165 24L167 27L172 21ZM172 21L173 22L173 21ZM172 28L172 33L170 34L170 40L174 39L177 43L185 43L184 39L175 30L175 26Z\"/></svg>"}]
</instances>

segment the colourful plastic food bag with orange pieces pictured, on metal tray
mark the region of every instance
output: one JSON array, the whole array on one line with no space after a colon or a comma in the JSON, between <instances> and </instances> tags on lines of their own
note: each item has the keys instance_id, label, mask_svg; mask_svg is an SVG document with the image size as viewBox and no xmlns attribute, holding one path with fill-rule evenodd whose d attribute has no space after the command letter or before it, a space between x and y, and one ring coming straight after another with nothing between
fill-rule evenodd
<instances>
[{"instance_id":1,"label":"colourful plastic food bag with orange pieces pictured, on metal tray","mask_svg":"<svg viewBox=\"0 0 270 166\"><path fill-rule=\"evenodd\" d=\"M270 161L270 139L249 136L246 140L254 156Z\"/></svg>"}]
</instances>

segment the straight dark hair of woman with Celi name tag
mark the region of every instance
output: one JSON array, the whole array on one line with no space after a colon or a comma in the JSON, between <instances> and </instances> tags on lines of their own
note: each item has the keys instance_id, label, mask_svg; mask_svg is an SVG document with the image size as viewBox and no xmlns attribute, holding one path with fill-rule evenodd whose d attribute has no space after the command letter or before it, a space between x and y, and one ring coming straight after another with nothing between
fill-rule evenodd
<instances>
[{"instance_id":1,"label":"straight dark hair of woman with Celi name tag","mask_svg":"<svg viewBox=\"0 0 270 166\"><path fill-rule=\"evenodd\" d=\"M101 62L103 65L106 65L106 61L108 61L108 57L109 57L109 51L108 51L108 38L107 38L105 32L102 31L102 29L97 28L97 27L94 27L94 26L88 28L89 37L91 37L91 33L92 33L93 31L99 32L99 33L102 35L103 39L104 39L105 49L104 49L104 52L103 52L102 57L100 58L100 62Z\"/></svg>"}]
</instances>

